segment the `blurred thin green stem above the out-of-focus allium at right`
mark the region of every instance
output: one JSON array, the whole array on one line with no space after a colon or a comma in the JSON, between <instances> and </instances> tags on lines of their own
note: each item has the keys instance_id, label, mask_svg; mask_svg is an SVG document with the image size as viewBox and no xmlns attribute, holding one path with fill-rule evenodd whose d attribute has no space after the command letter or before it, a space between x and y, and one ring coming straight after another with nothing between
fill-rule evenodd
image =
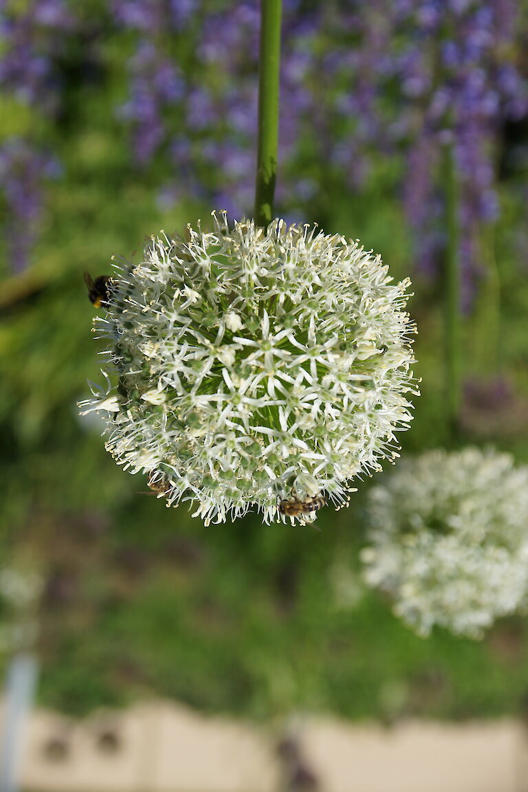
<instances>
[{"instance_id":1,"label":"blurred thin green stem above the out-of-focus allium at right","mask_svg":"<svg viewBox=\"0 0 528 792\"><path fill-rule=\"evenodd\" d=\"M458 432L461 403L462 321L460 313L460 271L458 266L458 184L454 150L444 148L446 190L446 406L451 440Z\"/></svg>"}]
</instances>

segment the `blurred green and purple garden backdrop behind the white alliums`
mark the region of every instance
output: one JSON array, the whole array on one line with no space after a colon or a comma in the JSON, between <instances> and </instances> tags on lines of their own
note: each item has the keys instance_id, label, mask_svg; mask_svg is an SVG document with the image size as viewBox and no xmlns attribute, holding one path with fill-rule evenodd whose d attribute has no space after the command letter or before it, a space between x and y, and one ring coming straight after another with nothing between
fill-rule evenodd
<instances>
[{"instance_id":1,"label":"blurred green and purple garden backdrop behind the white alliums","mask_svg":"<svg viewBox=\"0 0 528 792\"><path fill-rule=\"evenodd\" d=\"M31 648L39 703L74 715L153 696L255 719L522 714L525 618L424 640L365 588L370 479L319 531L205 528L78 417L102 348L85 270L253 211L258 28L257 0L2 3L0 666ZM275 211L412 276L405 454L528 461L527 44L526 0L284 0Z\"/></svg>"}]
</instances>

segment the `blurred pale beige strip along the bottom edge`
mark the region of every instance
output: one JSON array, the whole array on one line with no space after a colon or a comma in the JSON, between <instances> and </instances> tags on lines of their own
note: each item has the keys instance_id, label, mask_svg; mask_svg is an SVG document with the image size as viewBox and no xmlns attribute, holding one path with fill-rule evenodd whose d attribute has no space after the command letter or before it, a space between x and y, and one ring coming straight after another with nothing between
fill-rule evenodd
<instances>
[{"instance_id":1,"label":"blurred pale beige strip along the bottom edge","mask_svg":"<svg viewBox=\"0 0 528 792\"><path fill-rule=\"evenodd\" d=\"M528 792L528 739L513 720L291 722L321 792ZM36 711L21 784L35 792L279 792L278 730L150 703L82 722Z\"/></svg>"}]
</instances>

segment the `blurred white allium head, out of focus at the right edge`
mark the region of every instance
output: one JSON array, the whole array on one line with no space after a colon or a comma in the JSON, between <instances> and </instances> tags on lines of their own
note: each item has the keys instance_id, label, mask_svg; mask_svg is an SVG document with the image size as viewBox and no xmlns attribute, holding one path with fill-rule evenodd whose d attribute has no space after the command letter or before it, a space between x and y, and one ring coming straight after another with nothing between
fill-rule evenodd
<instances>
[{"instance_id":1,"label":"blurred white allium head, out of focus at the right edge","mask_svg":"<svg viewBox=\"0 0 528 792\"><path fill-rule=\"evenodd\" d=\"M509 454L429 451L369 493L367 582L420 634L479 637L528 592L528 467Z\"/></svg>"}]
</instances>

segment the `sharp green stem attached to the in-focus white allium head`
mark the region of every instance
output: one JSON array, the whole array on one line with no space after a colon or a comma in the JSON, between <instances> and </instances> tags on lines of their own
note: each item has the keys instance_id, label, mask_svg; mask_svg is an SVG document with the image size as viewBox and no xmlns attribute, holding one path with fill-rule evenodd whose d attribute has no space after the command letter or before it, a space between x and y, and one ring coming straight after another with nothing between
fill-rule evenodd
<instances>
[{"instance_id":1,"label":"sharp green stem attached to the in-focus white allium head","mask_svg":"<svg viewBox=\"0 0 528 792\"><path fill-rule=\"evenodd\" d=\"M260 0L259 125L256 156L255 223L268 227L279 147L279 63L282 0Z\"/></svg>"}]
</instances>

